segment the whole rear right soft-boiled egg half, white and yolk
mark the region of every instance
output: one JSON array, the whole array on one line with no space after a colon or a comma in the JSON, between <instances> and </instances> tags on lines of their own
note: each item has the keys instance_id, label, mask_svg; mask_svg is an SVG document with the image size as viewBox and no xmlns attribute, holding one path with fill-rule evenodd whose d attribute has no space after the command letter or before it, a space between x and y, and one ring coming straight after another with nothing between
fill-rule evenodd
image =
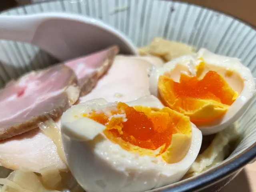
<instances>
[{"instance_id":1,"label":"whole rear right soft-boiled egg half, white and yolk","mask_svg":"<svg viewBox=\"0 0 256 192\"><path fill-rule=\"evenodd\" d=\"M149 75L151 94L189 116L205 135L235 122L255 94L252 73L240 60L204 48L153 67Z\"/></svg>"}]
</instances>

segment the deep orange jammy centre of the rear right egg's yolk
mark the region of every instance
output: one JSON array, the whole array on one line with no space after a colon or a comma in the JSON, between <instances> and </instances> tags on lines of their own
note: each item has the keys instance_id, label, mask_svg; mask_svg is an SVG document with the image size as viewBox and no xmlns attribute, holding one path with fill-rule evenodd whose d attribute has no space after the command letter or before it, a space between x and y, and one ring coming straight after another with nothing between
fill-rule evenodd
<instances>
[{"instance_id":1,"label":"deep orange jammy centre of the rear right egg's yolk","mask_svg":"<svg viewBox=\"0 0 256 192\"><path fill-rule=\"evenodd\" d=\"M174 82L173 92L180 98L211 99L226 105L234 102L234 91L230 91L224 78L214 71L207 72L201 80L181 74L180 82Z\"/></svg>"}]
</instances>

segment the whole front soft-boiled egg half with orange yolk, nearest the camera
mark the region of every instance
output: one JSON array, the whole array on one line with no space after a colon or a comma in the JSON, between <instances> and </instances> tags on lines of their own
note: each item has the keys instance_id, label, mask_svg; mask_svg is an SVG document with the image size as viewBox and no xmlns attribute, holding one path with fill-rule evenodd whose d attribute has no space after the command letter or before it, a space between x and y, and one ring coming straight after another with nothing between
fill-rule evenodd
<instances>
[{"instance_id":1,"label":"whole front soft-boiled egg half with orange yolk, nearest the camera","mask_svg":"<svg viewBox=\"0 0 256 192\"><path fill-rule=\"evenodd\" d=\"M154 96L104 99L62 116L68 166L87 192L143 192L177 182L199 153L202 133Z\"/></svg>"}]
</instances>

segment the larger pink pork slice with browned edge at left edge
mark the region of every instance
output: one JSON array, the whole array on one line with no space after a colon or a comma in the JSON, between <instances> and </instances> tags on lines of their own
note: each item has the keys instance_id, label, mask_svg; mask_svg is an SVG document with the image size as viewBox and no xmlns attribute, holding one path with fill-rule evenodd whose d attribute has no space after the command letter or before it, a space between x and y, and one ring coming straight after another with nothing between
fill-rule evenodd
<instances>
[{"instance_id":1,"label":"larger pink pork slice with browned edge at left edge","mask_svg":"<svg viewBox=\"0 0 256 192\"><path fill-rule=\"evenodd\" d=\"M0 140L59 118L79 97L76 75L64 65L30 72L0 91Z\"/></svg>"}]
</instances>

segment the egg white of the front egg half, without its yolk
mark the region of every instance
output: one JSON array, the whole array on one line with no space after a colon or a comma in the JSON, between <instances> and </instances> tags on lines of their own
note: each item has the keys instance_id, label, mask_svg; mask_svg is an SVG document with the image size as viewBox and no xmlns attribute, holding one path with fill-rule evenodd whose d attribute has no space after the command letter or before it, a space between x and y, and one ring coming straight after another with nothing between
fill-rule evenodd
<instances>
[{"instance_id":1,"label":"egg white of the front egg half, without its yolk","mask_svg":"<svg viewBox=\"0 0 256 192\"><path fill-rule=\"evenodd\" d=\"M172 184L184 176L199 153L202 133L194 124L192 124L192 143L188 154L174 164L167 164L162 158L132 154L118 144L112 143L102 133L99 133L94 140L83 140L87 138L87 127L84 124L83 132L79 128L76 129L74 113L88 113L93 108L102 109L102 105L106 108L106 101L103 100L88 103L78 104L62 116L62 140L68 166L86 192L143 192ZM154 96L140 98L127 104L163 107ZM114 104L107 104L110 105ZM70 125L72 122L74 122L73 126ZM72 131L75 134L70 133ZM76 138L78 133L80 136Z\"/></svg>"}]
</instances>

